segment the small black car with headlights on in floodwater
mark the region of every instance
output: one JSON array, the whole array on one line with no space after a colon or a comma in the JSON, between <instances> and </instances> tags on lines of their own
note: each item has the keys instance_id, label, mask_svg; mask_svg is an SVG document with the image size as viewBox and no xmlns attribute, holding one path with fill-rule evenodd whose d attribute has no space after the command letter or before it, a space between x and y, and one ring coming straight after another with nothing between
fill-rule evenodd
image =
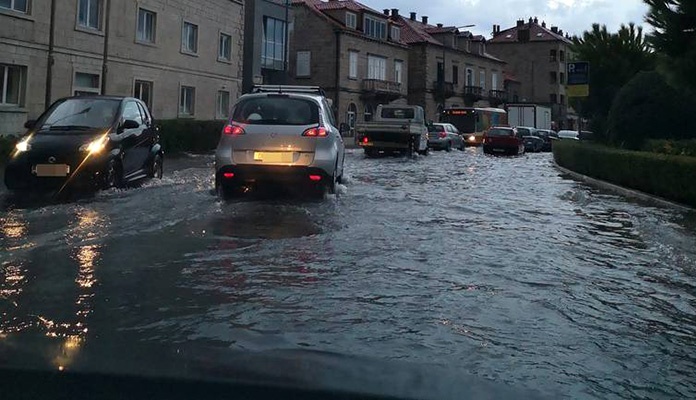
<instances>
[{"instance_id":1,"label":"small black car with headlights on in floodwater","mask_svg":"<svg viewBox=\"0 0 696 400\"><path fill-rule=\"evenodd\" d=\"M138 99L67 97L25 127L5 169L10 190L109 188L162 177L159 129Z\"/></svg>"}]
</instances>

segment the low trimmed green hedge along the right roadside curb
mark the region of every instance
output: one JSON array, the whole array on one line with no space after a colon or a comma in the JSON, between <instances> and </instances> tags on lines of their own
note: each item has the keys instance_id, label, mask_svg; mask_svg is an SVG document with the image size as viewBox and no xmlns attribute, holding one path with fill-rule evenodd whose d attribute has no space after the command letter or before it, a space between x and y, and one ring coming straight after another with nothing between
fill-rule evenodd
<instances>
[{"instance_id":1,"label":"low trimmed green hedge along the right roadside curb","mask_svg":"<svg viewBox=\"0 0 696 400\"><path fill-rule=\"evenodd\" d=\"M696 158L558 141L558 165L613 184L696 207Z\"/></svg>"}]
</instances>

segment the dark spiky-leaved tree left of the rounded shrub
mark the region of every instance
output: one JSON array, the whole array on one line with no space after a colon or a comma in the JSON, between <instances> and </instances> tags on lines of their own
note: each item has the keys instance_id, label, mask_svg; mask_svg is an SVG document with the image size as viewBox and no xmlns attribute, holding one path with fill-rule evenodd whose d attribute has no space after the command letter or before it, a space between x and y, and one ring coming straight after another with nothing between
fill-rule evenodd
<instances>
[{"instance_id":1,"label":"dark spiky-leaved tree left of the rounded shrub","mask_svg":"<svg viewBox=\"0 0 696 400\"><path fill-rule=\"evenodd\" d=\"M633 23L621 25L617 33L593 24L590 31L573 38L572 51L577 60L590 63L590 95L579 103L582 116L592 121L591 129L603 139L614 97L636 73L655 68L655 54L643 29Z\"/></svg>"}]
</instances>

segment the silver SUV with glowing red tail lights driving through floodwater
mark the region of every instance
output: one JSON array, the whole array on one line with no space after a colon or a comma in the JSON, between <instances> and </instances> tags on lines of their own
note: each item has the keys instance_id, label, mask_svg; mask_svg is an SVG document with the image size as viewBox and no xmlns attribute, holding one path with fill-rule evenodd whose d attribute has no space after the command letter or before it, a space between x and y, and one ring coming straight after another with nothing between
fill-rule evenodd
<instances>
[{"instance_id":1,"label":"silver SUV with glowing red tail lights driving through floodwater","mask_svg":"<svg viewBox=\"0 0 696 400\"><path fill-rule=\"evenodd\" d=\"M275 184L321 197L335 193L344 157L323 90L257 86L232 107L215 153L215 186L223 198Z\"/></svg>"}]
</instances>

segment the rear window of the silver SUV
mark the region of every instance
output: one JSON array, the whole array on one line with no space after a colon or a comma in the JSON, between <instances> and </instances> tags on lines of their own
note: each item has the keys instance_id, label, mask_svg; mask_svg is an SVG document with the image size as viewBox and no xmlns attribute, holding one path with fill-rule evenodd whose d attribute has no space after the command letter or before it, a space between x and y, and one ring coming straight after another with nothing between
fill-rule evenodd
<instances>
[{"instance_id":1,"label":"rear window of the silver SUV","mask_svg":"<svg viewBox=\"0 0 696 400\"><path fill-rule=\"evenodd\" d=\"M240 101L232 121L251 125L314 125L319 106L311 100L288 96L255 97Z\"/></svg>"}]
</instances>

